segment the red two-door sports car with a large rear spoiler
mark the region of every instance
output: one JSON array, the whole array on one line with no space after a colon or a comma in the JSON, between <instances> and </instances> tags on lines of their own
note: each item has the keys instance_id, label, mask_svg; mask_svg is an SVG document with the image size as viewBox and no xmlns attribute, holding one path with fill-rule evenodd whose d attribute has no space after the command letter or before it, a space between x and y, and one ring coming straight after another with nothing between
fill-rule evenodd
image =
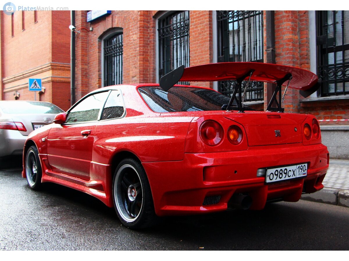
<instances>
[{"instance_id":1,"label":"red two-door sports car with a large rear spoiler","mask_svg":"<svg viewBox=\"0 0 349 261\"><path fill-rule=\"evenodd\" d=\"M175 85L218 80L236 80L231 98ZM267 111L244 106L250 81L276 84ZM307 96L318 85L290 66L218 63L181 66L160 85L100 88L28 136L22 175L32 189L54 182L86 192L130 228L298 201L323 188L329 155L315 117L284 113L282 102L287 88Z\"/></svg>"}]
</instances>

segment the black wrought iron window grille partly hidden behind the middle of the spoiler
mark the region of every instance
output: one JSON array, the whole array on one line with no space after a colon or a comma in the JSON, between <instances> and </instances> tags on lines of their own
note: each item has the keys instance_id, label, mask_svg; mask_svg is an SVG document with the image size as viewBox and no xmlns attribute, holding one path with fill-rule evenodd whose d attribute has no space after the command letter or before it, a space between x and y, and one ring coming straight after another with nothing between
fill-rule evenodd
<instances>
[{"instance_id":1,"label":"black wrought iron window grille partly hidden behind the middle of the spoiler","mask_svg":"<svg viewBox=\"0 0 349 261\"><path fill-rule=\"evenodd\" d=\"M217 11L218 62L263 62L263 11ZM218 81L230 96L236 81ZM245 83L243 82L243 85ZM244 101L262 101L263 82L250 82Z\"/></svg>"}]
</instances>

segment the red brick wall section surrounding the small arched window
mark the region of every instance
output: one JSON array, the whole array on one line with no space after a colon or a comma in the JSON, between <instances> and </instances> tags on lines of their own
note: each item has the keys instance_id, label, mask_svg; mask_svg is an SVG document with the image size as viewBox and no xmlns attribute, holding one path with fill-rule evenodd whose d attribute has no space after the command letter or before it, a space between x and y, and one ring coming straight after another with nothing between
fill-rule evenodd
<instances>
[{"instance_id":1,"label":"red brick wall section surrounding the small arched window","mask_svg":"<svg viewBox=\"0 0 349 261\"><path fill-rule=\"evenodd\" d=\"M154 46L148 33L149 11L113 11L111 15L86 22L87 11L76 11L76 28L93 27L93 31L80 30L76 35L76 97L102 86L102 38L113 29L122 29L123 82L148 82L150 48Z\"/></svg>"}]
</instances>

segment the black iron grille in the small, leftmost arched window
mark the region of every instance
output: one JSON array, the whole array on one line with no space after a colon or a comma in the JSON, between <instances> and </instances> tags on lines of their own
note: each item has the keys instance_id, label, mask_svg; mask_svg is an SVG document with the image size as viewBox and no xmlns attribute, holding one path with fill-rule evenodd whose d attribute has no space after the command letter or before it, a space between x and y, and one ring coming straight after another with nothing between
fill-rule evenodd
<instances>
[{"instance_id":1,"label":"black iron grille in the small, leftmost arched window","mask_svg":"<svg viewBox=\"0 0 349 261\"><path fill-rule=\"evenodd\" d=\"M104 40L104 86L122 84L122 33Z\"/></svg>"}]
</instances>

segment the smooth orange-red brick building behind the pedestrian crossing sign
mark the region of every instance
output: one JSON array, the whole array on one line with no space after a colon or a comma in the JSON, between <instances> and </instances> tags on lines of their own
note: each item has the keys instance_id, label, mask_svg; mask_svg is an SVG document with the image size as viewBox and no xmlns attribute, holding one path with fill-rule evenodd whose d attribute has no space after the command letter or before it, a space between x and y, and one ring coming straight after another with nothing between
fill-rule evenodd
<instances>
[{"instance_id":1,"label":"smooth orange-red brick building behind the pedestrian crossing sign","mask_svg":"<svg viewBox=\"0 0 349 261\"><path fill-rule=\"evenodd\" d=\"M0 12L0 100L33 100L29 78L42 79L37 101L70 107L70 11Z\"/></svg>"}]
</instances>

